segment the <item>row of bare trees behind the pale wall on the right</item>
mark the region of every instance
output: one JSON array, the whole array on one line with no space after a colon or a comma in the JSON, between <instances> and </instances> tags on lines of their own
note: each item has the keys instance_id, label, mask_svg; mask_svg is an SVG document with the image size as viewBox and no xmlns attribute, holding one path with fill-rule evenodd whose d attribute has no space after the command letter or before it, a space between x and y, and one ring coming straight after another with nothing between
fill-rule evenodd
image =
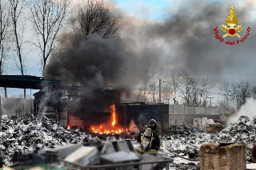
<instances>
[{"instance_id":1,"label":"row of bare trees behind the pale wall on the right","mask_svg":"<svg viewBox=\"0 0 256 170\"><path fill-rule=\"evenodd\" d=\"M133 100L147 103L158 103L159 79L149 67L141 69L142 83L134 89ZM240 108L246 99L256 99L256 86L249 81L225 82L218 89L214 89L209 77L197 78L187 70L171 70L165 80L161 80L162 103L173 105L186 105L196 107L233 107ZM218 91L217 93L214 91ZM155 97L157 94L157 98ZM212 95L218 97L218 102L211 100ZM215 100L216 101L216 100Z\"/></svg>"}]
</instances>

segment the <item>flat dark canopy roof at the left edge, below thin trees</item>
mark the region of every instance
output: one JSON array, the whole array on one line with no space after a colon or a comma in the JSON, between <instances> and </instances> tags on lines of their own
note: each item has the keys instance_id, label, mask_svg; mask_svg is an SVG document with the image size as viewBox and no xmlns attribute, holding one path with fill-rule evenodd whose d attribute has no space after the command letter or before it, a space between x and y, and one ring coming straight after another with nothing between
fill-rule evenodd
<instances>
[{"instance_id":1,"label":"flat dark canopy roof at the left edge, below thin trees","mask_svg":"<svg viewBox=\"0 0 256 170\"><path fill-rule=\"evenodd\" d=\"M46 85L60 85L61 81L29 75L0 75L0 87L42 89Z\"/></svg>"}]
</instances>

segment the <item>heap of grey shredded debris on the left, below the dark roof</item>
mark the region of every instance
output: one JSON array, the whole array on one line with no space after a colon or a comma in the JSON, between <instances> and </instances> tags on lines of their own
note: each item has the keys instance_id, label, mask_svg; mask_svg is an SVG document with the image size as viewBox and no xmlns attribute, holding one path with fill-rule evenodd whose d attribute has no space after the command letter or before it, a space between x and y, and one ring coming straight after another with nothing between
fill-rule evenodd
<instances>
[{"instance_id":1,"label":"heap of grey shredded debris on the left, below the dark roof","mask_svg":"<svg viewBox=\"0 0 256 170\"><path fill-rule=\"evenodd\" d=\"M89 134L79 132L79 129L68 130L66 127L60 127L46 117L38 120L33 115L11 118L2 116L0 166L30 160L30 153L35 148L55 148L89 140L93 140Z\"/></svg>"}]
</instances>

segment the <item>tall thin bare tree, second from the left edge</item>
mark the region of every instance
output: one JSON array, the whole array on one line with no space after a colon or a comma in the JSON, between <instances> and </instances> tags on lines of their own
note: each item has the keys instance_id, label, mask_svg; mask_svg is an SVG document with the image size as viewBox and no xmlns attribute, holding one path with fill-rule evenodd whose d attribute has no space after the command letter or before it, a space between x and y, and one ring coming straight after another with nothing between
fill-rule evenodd
<instances>
[{"instance_id":1,"label":"tall thin bare tree, second from the left edge","mask_svg":"<svg viewBox=\"0 0 256 170\"><path fill-rule=\"evenodd\" d=\"M14 36L14 51L18 57L18 69L24 75L24 57L22 56L22 41L24 27L19 28L20 17L25 6L25 0L9 0L10 2L10 22ZM26 89L24 89L24 98L26 98Z\"/></svg>"}]
</instances>

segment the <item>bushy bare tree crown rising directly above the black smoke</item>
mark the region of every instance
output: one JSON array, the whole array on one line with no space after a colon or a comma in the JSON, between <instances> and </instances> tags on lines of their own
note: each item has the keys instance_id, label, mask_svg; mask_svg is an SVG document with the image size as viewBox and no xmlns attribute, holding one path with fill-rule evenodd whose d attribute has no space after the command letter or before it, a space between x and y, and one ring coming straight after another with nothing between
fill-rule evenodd
<instances>
[{"instance_id":1,"label":"bushy bare tree crown rising directly above the black smoke","mask_svg":"<svg viewBox=\"0 0 256 170\"><path fill-rule=\"evenodd\" d=\"M86 40L90 34L100 34L102 38L120 38L118 19L110 14L102 0L87 0L79 9L78 21Z\"/></svg>"}]
</instances>

